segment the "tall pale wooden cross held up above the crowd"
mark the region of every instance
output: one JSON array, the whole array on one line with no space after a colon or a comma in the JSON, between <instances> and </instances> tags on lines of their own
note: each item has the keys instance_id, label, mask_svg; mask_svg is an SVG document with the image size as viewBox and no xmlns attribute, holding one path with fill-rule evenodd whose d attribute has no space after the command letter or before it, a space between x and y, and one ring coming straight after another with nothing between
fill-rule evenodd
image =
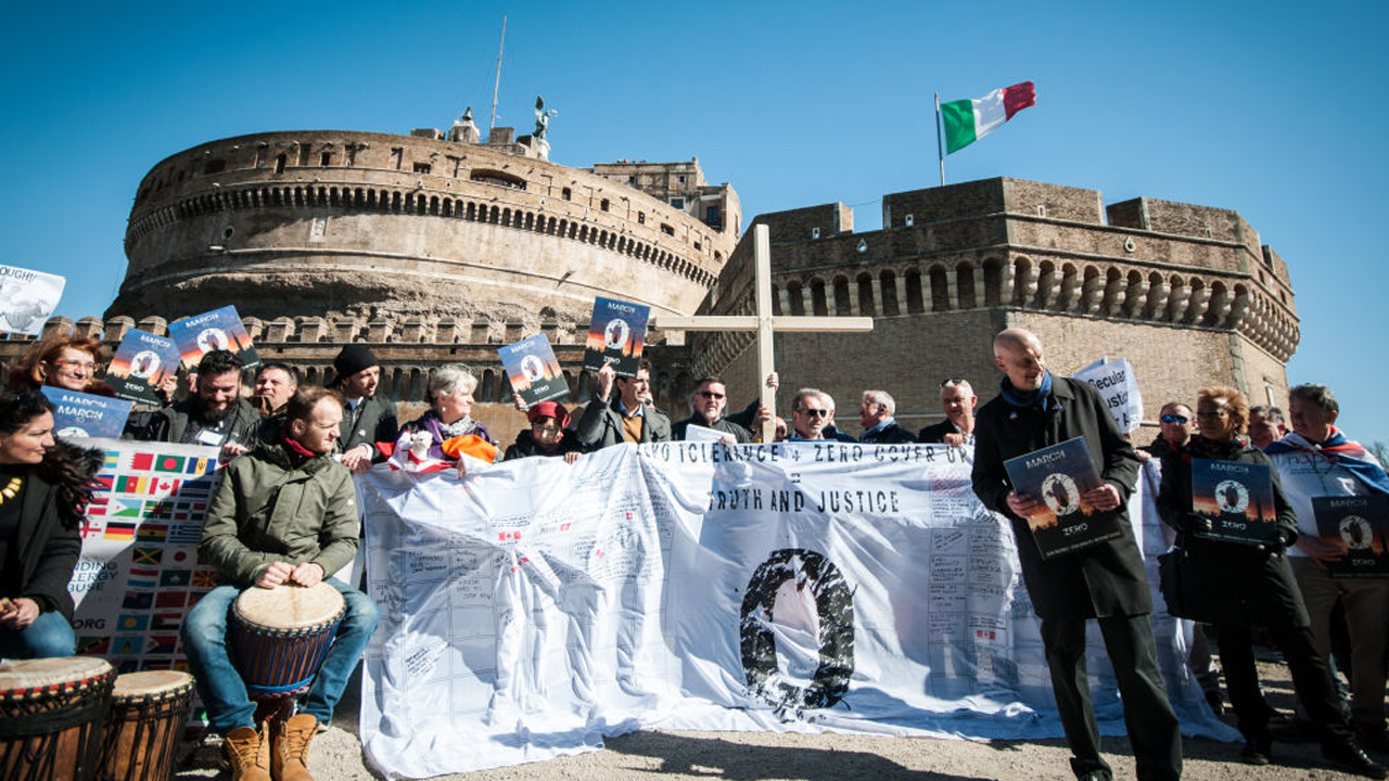
<instances>
[{"instance_id":1,"label":"tall pale wooden cross held up above the crowd","mask_svg":"<svg viewBox=\"0 0 1389 781\"><path fill-rule=\"evenodd\" d=\"M757 343L757 382L760 399L771 413L763 421L763 442L774 442L776 432L776 392L767 386L772 368L772 334L863 334L872 331L871 317L820 317L772 314L772 263L767 225L753 225L753 285L757 289L757 313L751 315L669 317L656 315L651 328L663 331L753 331Z\"/></svg>"}]
</instances>

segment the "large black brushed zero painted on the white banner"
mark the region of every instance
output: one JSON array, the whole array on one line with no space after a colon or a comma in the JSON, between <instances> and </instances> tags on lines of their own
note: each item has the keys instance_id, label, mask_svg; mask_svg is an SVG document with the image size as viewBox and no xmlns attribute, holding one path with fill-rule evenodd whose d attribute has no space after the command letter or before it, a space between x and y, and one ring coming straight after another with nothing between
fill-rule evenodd
<instances>
[{"instance_id":1,"label":"large black brushed zero painted on the white banner","mask_svg":"<svg viewBox=\"0 0 1389 781\"><path fill-rule=\"evenodd\" d=\"M776 638L768 628L776 589L790 579L810 589L820 613L820 666L814 684L804 688L781 680ZM849 692L854 673L854 595L839 567L824 554L801 548L774 550L747 582L739 635L743 673L753 691L783 706L804 707L832 707Z\"/></svg>"}]
</instances>

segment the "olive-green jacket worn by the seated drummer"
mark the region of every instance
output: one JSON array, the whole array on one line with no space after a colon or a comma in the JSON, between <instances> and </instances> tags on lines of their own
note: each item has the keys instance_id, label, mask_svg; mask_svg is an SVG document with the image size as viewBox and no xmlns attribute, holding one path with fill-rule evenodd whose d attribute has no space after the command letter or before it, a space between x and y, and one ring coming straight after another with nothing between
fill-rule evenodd
<instances>
[{"instance_id":1,"label":"olive-green jacket worn by the seated drummer","mask_svg":"<svg viewBox=\"0 0 1389 781\"><path fill-rule=\"evenodd\" d=\"M332 575L356 556L357 535L347 467L317 456L293 468L283 445L263 445L222 471L197 552L222 582L249 586L272 561L314 561Z\"/></svg>"}]
</instances>

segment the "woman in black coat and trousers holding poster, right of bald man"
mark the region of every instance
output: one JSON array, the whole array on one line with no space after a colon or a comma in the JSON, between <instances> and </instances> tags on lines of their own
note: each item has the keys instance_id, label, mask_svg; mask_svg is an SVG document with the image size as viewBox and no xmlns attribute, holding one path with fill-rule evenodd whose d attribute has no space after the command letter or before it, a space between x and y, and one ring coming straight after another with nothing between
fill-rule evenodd
<instances>
[{"instance_id":1,"label":"woman in black coat and trousers holding poster, right of bald man","mask_svg":"<svg viewBox=\"0 0 1389 781\"><path fill-rule=\"evenodd\" d=\"M1331 680L1331 667L1317 656L1301 592L1283 557L1283 549L1297 539L1297 517L1283 496L1278 471L1270 470L1278 525L1274 543L1246 545L1201 536L1211 531L1211 520L1193 509L1192 460L1270 466L1268 457L1242 436L1249 403L1233 388L1201 388L1196 420L1200 434L1163 456L1157 509L1163 521L1179 532L1176 546L1195 564L1200 593L1208 600L1203 607L1215 624L1225 687L1246 741L1240 759L1249 764L1268 764L1272 745L1268 734L1272 709L1258 688L1250 634L1251 624L1263 624L1288 661L1297 696L1313 720L1322 724L1322 755L1347 770L1383 778L1383 768L1356 743Z\"/></svg>"}]
</instances>

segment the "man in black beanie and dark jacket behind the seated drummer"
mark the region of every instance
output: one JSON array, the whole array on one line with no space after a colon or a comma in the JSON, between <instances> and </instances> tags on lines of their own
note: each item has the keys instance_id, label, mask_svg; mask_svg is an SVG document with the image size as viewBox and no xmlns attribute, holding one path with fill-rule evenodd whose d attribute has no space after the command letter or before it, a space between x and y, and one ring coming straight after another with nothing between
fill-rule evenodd
<instances>
[{"instance_id":1,"label":"man in black beanie and dark jacket behind the seated drummer","mask_svg":"<svg viewBox=\"0 0 1389 781\"><path fill-rule=\"evenodd\" d=\"M342 392L343 422L336 450L342 463L353 474L371 468L372 463L385 460L376 450L376 442L396 441L400 424L396 421L396 404L376 395L381 386L381 361L367 345L347 345L333 359L336 379L333 388Z\"/></svg>"}]
</instances>

